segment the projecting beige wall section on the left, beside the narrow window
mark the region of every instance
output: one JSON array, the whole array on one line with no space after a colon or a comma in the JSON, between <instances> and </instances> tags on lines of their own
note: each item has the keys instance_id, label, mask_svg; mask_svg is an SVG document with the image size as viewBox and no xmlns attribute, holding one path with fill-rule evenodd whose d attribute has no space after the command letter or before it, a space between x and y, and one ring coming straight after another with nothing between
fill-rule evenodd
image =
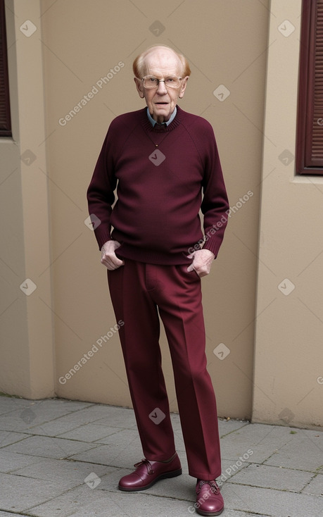
<instances>
[{"instance_id":1,"label":"projecting beige wall section on the left, beside the narrow window","mask_svg":"<svg viewBox=\"0 0 323 517\"><path fill-rule=\"evenodd\" d=\"M40 25L34 38L19 30L30 18L38 2L6 2L13 138L0 139L0 390L39 398L54 394L54 361L51 277L41 274L50 255Z\"/></svg>"}]
</instances>

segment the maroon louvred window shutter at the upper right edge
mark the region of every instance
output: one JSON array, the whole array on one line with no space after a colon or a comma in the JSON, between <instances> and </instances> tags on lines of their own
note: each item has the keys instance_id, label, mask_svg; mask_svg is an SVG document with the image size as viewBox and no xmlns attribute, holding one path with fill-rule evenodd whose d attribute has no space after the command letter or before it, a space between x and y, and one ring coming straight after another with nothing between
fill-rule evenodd
<instances>
[{"instance_id":1,"label":"maroon louvred window shutter at the upper right edge","mask_svg":"<svg viewBox=\"0 0 323 517\"><path fill-rule=\"evenodd\" d=\"M323 0L303 0L296 173L323 175Z\"/></svg>"}]
</instances>

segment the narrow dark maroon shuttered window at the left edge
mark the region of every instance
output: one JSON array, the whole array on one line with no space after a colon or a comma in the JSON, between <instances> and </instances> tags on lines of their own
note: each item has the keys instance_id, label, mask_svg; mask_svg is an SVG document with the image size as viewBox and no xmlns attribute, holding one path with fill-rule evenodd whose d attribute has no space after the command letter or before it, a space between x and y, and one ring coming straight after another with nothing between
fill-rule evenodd
<instances>
[{"instance_id":1,"label":"narrow dark maroon shuttered window at the left edge","mask_svg":"<svg viewBox=\"0 0 323 517\"><path fill-rule=\"evenodd\" d=\"M0 137L11 137L4 0L0 0Z\"/></svg>"}]
</instances>

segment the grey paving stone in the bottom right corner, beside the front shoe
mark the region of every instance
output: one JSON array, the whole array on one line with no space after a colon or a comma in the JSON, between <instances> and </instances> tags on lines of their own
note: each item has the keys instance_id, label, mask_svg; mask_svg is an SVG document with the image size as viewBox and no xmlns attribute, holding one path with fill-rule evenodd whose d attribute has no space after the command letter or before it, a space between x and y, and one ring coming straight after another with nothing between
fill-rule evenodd
<instances>
[{"instance_id":1,"label":"grey paving stone in the bottom right corner, beside the front shoe","mask_svg":"<svg viewBox=\"0 0 323 517\"><path fill-rule=\"evenodd\" d=\"M227 509L264 514L270 517L322 517L322 497L280 492L224 483L222 495ZM224 516L225 517L225 516Z\"/></svg>"}]
</instances>

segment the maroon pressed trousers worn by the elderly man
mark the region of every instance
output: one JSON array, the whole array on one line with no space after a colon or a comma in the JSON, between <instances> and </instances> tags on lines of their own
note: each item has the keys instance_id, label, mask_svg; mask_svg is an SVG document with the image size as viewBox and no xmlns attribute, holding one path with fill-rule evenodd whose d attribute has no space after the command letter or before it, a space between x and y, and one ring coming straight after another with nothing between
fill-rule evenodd
<instances>
[{"instance_id":1,"label":"maroon pressed trousers worn by the elderly man","mask_svg":"<svg viewBox=\"0 0 323 517\"><path fill-rule=\"evenodd\" d=\"M221 474L217 408L206 370L201 280L187 264L156 266L125 260L108 271L129 390L144 456L164 461L175 453L161 366L160 319L170 347L189 474ZM158 315L159 313L159 315Z\"/></svg>"}]
</instances>

